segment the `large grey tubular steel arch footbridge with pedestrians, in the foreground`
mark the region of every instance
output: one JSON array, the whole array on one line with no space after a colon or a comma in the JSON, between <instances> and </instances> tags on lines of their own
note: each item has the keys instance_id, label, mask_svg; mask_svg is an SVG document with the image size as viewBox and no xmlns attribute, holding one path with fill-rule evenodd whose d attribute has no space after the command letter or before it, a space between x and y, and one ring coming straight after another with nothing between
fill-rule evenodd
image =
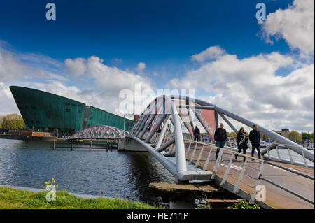
<instances>
[{"instance_id":1,"label":"large grey tubular steel arch footbridge with pedestrians, in the foreground","mask_svg":"<svg viewBox=\"0 0 315 223\"><path fill-rule=\"evenodd\" d=\"M207 137L202 137L200 142L193 141L193 115L207 131ZM246 154L244 163L235 161L236 148L228 146L232 144L232 138L225 148L219 148L218 159L215 159L217 148L213 136L218 128L218 116L235 132L237 129L229 119L248 127L255 124L214 104L188 96L158 96L124 140L134 141L150 152L174 175L176 183L214 181L250 203L266 208L314 208L313 152L258 124L258 131L273 140L262 149L263 159L252 159ZM185 124L188 134L183 134L181 123ZM174 159L169 159L169 155ZM192 165L195 168L188 168ZM256 198L259 185L266 188L265 201Z\"/></svg>"}]
</instances>

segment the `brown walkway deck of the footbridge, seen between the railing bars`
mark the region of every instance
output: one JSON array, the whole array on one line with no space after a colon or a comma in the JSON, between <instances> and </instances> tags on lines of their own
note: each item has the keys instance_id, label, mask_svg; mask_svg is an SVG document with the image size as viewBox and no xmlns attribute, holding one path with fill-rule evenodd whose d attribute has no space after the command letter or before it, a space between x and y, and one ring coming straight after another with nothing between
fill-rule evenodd
<instances>
[{"instance_id":1,"label":"brown walkway deck of the footbridge, seen between the railing bars","mask_svg":"<svg viewBox=\"0 0 315 223\"><path fill-rule=\"evenodd\" d=\"M188 149L189 143L186 143L186 152ZM204 150L202 152L202 156L200 159L200 167L204 167L206 163L209 150L211 146L204 146ZM195 143L190 145L189 153L187 156L187 160L189 161L191 156L193 155L193 150L195 149ZM195 150L195 154L193 157L193 163L197 162L197 158L202 150L202 145L198 144L197 149ZM186 153L187 154L187 153ZM214 170L214 165L216 164L216 148L214 148L211 152L211 156L209 159L209 163L207 166L208 171ZM227 168L230 161L231 154L229 152L223 153L223 161L218 168L218 172L216 175L218 178L223 178L225 174L225 169ZM272 161L276 164L279 162ZM232 185L236 185L237 179L239 178L239 173L241 172L241 168L243 167L243 157L239 156L238 161L233 158L232 165L230 168L230 172L228 174L227 182ZM283 164L281 166L286 166L287 168L292 168L295 171L299 171L300 173L304 173L307 175L311 175L314 177L314 169L306 168L303 166L296 166L292 164ZM246 168L244 171L244 177L241 180L241 185L239 189L243 190L248 194L253 194L253 187L255 186L255 179L258 176L258 170L260 168L260 163L255 160L251 161L249 159L246 164ZM300 194L307 199L314 201L314 180L304 178L295 173L291 173L290 171L283 170L282 168L278 168L276 166L272 166L270 164L265 164L264 171L262 173L262 177L267 180L271 180L272 182L276 182L276 184L281 185L282 187L286 187L287 189L292 190L293 192ZM260 180L260 185L265 185L266 188L266 201L264 202L267 206L272 208L314 208L314 205L304 201L297 196L290 194L289 192L280 189L274 185L271 185L269 182L265 180Z\"/></svg>"}]
</instances>

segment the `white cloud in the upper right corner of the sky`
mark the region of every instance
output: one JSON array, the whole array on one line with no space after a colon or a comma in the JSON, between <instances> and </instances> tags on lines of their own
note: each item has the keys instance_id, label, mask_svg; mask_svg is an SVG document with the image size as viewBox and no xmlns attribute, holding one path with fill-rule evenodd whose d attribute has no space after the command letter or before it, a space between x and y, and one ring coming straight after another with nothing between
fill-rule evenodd
<instances>
[{"instance_id":1,"label":"white cloud in the upper right corner of the sky","mask_svg":"<svg viewBox=\"0 0 315 223\"><path fill-rule=\"evenodd\" d=\"M266 41L272 42L270 37L276 36L291 48L314 53L314 0L295 0L293 6L270 13L260 24Z\"/></svg>"}]
</instances>

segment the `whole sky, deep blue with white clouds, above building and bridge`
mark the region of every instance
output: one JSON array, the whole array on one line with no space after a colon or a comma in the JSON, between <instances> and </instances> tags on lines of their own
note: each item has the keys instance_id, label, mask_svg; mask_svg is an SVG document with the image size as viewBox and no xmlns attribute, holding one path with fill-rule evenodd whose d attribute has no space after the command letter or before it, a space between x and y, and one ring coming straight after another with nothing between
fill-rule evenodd
<instances>
[{"instance_id":1,"label":"whole sky, deep blue with white clouds, above building and bridge","mask_svg":"<svg viewBox=\"0 0 315 223\"><path fill-rule=\"evenodd\" d=\"M120 92L136 84L314 131L314 0L0 1L0 115L19 113L10 85L120 114Z\"/></svg>"}]
</instances>

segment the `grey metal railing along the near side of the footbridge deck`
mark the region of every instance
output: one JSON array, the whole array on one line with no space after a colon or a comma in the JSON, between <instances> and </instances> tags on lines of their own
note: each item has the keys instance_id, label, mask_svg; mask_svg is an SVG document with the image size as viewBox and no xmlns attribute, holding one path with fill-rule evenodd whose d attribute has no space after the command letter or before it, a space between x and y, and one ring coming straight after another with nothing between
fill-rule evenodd
<instances>
[{"instance_id":1,"label":"grey metal railing along the near side of the footbridge deck","mask_svg":"<svg viewBox=\"0 0 315 223\"><path fill-rule=\"evenodd\" d=\"M272 190L270 185L297 196L298 198L307 201L314 205L314 201L294 192L293 189L286 188L286 185L272 182L268 179L267 173L264 176L264 168L267 165L282 168L285 171L290 171L294 175L300 175L304 178L309 178L314 181L314 177L305 175L294 171L290 168L273 164L272 162L258 159L256 157L241 154L235 151L235 148L225 147L218 148L216 145L211 145L204 142L195 142L190 139L185 139L186 157L189 164L195 164L195 168L202 168L203 171L211 171L211 179L217 180L221 187L228 189L230 192L238 194L239 196L248 199L250 203L260 202L256 198L258 189L260 189L260 182L264 180L269 183L266 188L267 193ZM218 159L216 159L216 150L219 150ZM172 146L167 149L169 154L174 154L176 151ZM243 163L235 161L235 155L242 159L245 157Z\"/></svg>"}]
</instances>

